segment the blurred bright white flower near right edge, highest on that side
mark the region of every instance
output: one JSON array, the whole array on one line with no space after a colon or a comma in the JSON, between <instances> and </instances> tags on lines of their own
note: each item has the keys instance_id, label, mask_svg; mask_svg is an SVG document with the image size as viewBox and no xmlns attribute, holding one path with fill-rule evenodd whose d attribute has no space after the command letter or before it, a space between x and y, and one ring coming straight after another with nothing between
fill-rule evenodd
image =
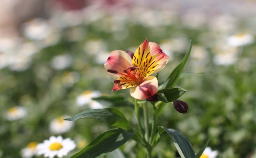
<instances>
[{"instance_id":1,"label":"blurred bright white flower near right edge, highest on that side","mask_svg":"<svg viewBox=\"0 0 256 158\"><path fill-rule=\"evenodd\" d=\"M228 37L228 44L231 46L243 46L254 42L254 37L251 34L236 34Z\"/></svg>"}]
</instances>

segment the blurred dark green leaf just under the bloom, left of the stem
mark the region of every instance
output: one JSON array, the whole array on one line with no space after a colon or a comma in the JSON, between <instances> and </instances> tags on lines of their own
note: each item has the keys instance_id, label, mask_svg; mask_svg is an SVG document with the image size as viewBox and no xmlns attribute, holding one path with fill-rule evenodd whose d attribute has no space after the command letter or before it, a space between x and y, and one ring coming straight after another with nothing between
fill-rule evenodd
<instances>
[{"instance_id":1,"label":"blurred dark green leaf just under the bloom, left of the stem","mask_svg":"<svg viewBox=\"0 0 256 158\"><path fill-rule=\"evenodd\" d=\"M126 98L122 95L103 95L97 98L92 98L93 100L96 100L98 102L104 102L104 103L110 103L111 106L128 106L128 107L134 107L132 103L126 100ZM106 104L105 104L106 105Z\"/></svg>"}]
</instances>

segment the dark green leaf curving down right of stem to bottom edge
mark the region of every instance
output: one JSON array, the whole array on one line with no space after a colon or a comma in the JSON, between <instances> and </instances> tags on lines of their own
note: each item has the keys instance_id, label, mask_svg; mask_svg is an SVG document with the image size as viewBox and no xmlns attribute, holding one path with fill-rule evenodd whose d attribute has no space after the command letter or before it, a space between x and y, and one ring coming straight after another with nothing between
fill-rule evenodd
<instances>
[{"instance_id":1,"label":"dark green leaf curving down right of stem to bottom edge","mask_svg":"<svg viewBox=\"0 0 256 158\"><path fill-rule=\"evenodd\" d=\"M196 154L188 138L183 136L178 130L158 126L158 132L160 135L164 131L172 138L181 158L196 158Z\"/></svg>"}]
</instances>

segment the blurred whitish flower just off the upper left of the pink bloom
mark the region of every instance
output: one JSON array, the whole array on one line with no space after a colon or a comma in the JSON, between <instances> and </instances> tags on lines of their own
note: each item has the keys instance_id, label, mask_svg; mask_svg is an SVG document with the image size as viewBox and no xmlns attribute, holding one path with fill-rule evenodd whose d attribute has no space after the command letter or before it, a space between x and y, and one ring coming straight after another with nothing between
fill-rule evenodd
<instances>
[{"instance_id":1,"label":"blurred whitish flower just off the upper left of the pink bloom","mask_svg":"<svg viewBox=\"0 0 256 158\"><path fill-rule=\"evenodd\" d=\"M90 55L94 55L106 50L106 43L101 39L92 39L85 43L84 51Z\"/></svg>"}]
</instances>

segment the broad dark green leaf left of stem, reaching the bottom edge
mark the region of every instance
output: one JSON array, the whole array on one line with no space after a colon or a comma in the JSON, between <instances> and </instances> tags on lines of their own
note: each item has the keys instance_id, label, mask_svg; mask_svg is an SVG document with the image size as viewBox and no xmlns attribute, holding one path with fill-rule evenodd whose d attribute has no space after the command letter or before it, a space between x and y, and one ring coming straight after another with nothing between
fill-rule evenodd
<instances>
[{"instance_id":1,"label":"broad dark green leaf left of stem, reaching the bottom edge","mask_svg":"<svg viewBox=\"0 0 256 158\"><path fill-rule=\"evenodd\" d=\"M122 128L108 130L92 140L71 158L101 158L126 143L133 133Z\"/></svg>"}]
</instances>

